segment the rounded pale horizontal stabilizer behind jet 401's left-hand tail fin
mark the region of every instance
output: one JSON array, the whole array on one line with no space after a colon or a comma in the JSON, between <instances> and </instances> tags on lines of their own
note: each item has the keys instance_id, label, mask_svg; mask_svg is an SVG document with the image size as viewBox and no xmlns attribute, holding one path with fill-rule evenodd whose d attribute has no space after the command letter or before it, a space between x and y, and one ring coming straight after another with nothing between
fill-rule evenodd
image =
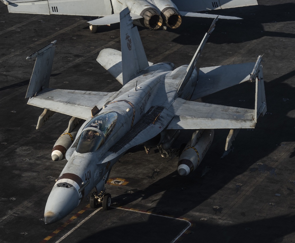
<instances>
[{"instance_id":1,"label":"rounded pale horizontal stabilizer behind jet 401's left-hand tail fin","mask_svg":"<svg viewBox=\"0 0 295 243\"><path fill-rule=\"evenodd\" d=\"M120 51L111 48L101 50L96 61L123 85L122 55ZM150 62L148 64L153 65Z\"/></svg>"}]
</instances>

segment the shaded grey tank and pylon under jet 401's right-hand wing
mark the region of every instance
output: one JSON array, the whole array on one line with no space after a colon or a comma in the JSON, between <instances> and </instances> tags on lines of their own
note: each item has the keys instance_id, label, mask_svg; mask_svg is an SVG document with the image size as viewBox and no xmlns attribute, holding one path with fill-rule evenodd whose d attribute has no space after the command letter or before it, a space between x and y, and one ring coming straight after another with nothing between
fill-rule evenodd
<instances>
[{"instance_id":1,"label":"shaded grey tank and pylon under jet 401's right-hand wing","mask_svg":"<svg viewBox=\"0 0 295 243\"><path fill-rule=\"evenodd\" d=\"M194 132L191 141L187 143L183 152L179 156L177 168L179 175L188 175L199 166L212 144L213 137L213 129Z\"/></svg>"}]
</instances>

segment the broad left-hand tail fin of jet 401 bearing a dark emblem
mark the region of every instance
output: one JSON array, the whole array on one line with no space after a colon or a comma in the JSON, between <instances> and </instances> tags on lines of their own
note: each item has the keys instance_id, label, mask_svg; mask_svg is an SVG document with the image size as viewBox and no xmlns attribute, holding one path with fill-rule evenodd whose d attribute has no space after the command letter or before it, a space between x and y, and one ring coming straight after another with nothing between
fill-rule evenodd
<instances>
[{"instance_id":1,"label":"broad left-hand tail fin of jet 401 bearing a dark emblem","mask_svg":"<svg viewBox=\"0 0 295 243\"><path fill-rule=\"evenodd\" d=\"M122 10L120 12L120 35L123 86L140 70L149 66L137 27L134 27L132 22L129 9Z\"/></svg>"}]
</instances>

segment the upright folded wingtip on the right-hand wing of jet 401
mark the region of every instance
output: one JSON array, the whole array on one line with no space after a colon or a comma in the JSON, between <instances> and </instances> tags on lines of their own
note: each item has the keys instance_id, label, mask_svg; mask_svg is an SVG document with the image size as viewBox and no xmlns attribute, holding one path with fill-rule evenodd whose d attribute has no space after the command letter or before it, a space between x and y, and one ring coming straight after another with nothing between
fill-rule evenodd
<instances>
[{"instance_id":1,"label":"upright folded wingtip on the right-hand wing of jet 401","mask_svg":"<svg viewBox=\"0 0 295 243\"><path fill-rule=\"evenodd\" d=\"M266 113L266 98L264 91L264 80L263 80L263 71L262 71L262 55L258 56L255 66L252 73L250 73L250 81L256 82L255 90L255 122L260 116L263 116Z\"/></svg>"}]
</instances>

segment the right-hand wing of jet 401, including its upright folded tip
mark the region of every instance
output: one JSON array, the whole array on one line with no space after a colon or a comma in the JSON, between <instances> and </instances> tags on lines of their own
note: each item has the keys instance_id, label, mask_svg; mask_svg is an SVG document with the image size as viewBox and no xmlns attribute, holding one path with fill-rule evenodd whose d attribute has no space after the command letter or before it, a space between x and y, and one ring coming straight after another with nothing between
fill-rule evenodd
<instances>
[{"instance_id":1,"label":"right-hand wing of jet 401, including its upright folded tip","mask_svg":"<svg viewBox=\"0 0 295 243\"><path fill-rule=\"evenodd\" d=\"M221 106L176 98L168 109L171 113L175 114L175 116L167 129L239 129L255 127L258 118L266 113L266 98L261 61L262 56L258 56L252 72L242 79L250 80L251 82L255 81L254 109ZM248 68L253 67L253 64L254 63L247 64L249 65ZM245 74L242 75L242 77L243 76L245 76ZM217 85L215 90L217 91L220 88L224 88L224 84L222 84L221 87Z\"/></svg>"}]
</instances>

